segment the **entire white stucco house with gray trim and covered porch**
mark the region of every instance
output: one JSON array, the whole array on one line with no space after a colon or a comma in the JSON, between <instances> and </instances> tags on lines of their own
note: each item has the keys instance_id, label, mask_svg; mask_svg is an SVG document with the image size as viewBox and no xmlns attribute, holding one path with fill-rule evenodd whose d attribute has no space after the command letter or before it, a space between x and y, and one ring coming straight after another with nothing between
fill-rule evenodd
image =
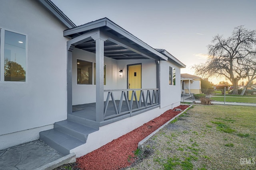
<instances>
[{"instance_id":1,"label":"entire white stucco house with gray trim and covered porch","mask_svg":"<svg viewBox=\"0 0 256 170\"><path fill-rule=\"evenodd\" d=\"M180 105L185 65L108 18L76 26L50 0L0 13L0 149L80 157Z\"/></svg>"}]
</instances>

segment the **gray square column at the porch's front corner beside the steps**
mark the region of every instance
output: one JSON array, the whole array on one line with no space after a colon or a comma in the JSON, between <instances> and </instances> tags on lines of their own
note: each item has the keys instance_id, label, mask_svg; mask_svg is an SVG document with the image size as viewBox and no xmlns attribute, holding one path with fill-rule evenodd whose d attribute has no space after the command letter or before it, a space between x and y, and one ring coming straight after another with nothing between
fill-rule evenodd
<instances>
[{"instance_id":1,"label":"gray square column at the porch's front corner beside the steps","mask_svg":"<svg viewBox=\"0 0 256 170\"><path fill-rule=\"evenodd\" d=\"M104 121L104 41L100 33L93 35L96 42L96 121Z\"/></svg>"}]
</instances>

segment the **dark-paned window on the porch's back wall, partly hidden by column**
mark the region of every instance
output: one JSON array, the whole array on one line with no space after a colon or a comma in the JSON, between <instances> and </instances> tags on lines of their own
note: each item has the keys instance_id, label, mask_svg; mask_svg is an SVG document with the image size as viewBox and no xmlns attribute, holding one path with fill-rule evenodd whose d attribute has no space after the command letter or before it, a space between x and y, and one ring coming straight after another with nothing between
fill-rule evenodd
<instances>
[{"instance_id":1,"label":"dark-paned window on the porch's back wall, partly hidden by column","mask_svg":"<svg viewBox=\"0 0 256 170\"><path fill-rule=\"evenodd\" d=\"M92 67L92 62L77 60L77 84L92 84L92 81L96 85L96 63L93 63ZM104 85L106 85L106 65L104 65Z\"/></svg>"}]
</instances>

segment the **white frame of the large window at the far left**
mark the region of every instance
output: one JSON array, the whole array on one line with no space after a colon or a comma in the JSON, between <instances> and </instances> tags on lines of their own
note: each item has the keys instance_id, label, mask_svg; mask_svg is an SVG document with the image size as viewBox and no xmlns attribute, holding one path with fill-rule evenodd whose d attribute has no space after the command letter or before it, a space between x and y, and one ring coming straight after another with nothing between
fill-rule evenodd
<instances>
[{"instance_id":1,"label":"white frame of the large window at the far left","mask_svg":"<svg viewBox=\"0 0 256 170\"><path fill-rule=\"evenodd\" d=\"M20 35L24 35L26 36L26 50L25 50L25 63L26 63L26 68L24 69L26 74L25 74L25 81L20 82L20 81L5 81L4 80L4 44L5 44L5 31L9 31L12 33L17 33ZM25 33L20 33L17 31L13 31L10 29L4 29L0 27L0 82L1 83L22 83L22 84L26 84L28 82L28 35Z\"/></svg>"}]
</instances>

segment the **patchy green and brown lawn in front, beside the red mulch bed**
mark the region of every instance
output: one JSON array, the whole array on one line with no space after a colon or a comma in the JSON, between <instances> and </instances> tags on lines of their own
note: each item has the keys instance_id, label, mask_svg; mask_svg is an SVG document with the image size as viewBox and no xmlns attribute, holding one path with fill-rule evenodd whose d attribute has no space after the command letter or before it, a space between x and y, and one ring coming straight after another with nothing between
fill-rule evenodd
<instances>
[{"instance_id":1,"label":"patchy green and brown lawn in front, beside the red mulch bed","mask_svg":"<svg viewBox=\"0 0 256 170\"><path fill-rule=\"evenodd\" d=\"M255 107L196 105L137 149L143 159L128 169L255 170L255 150Z\"/></svg>"}]
</instances>

